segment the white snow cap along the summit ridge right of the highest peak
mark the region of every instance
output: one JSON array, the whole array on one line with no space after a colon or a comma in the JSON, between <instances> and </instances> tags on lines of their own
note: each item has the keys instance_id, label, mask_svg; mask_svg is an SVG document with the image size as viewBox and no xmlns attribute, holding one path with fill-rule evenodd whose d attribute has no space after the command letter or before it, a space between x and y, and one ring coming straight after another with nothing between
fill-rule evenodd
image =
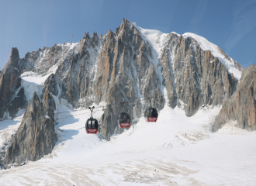
<instances>
[{"instance_id":1,"label":"white snow cap along the summit ridge right of the highest peak","mask_svg":"<svg viewBox=\"0 0 256 186\"><path fill-rule=\"evenodd\" d=\"M156 29L143 29L137 26L135 22L133 22L133 25L140 30L140 33L142 33L145 38L147 38L154 50L157 51L158 57L160 57L161 51L165 47L164 43L168 40L168 33L161 33L161 31ZM178 33L175 34L177 36L181 36ZM208 40L206 40L206 38L198 36L195 33L184 33L182 36L184 38L194 38L200 44L202 50L210 50L214 57L218 57L220 62L227 68L227 71L229 71L229 73L233 73L234 77L236 77L238 80L240 79L242 71L238 70L237 67L235 67L235 61L231 57L225 57L223 53L221 53L218 46L210 43Z\"/></svg>"}]
</instances>

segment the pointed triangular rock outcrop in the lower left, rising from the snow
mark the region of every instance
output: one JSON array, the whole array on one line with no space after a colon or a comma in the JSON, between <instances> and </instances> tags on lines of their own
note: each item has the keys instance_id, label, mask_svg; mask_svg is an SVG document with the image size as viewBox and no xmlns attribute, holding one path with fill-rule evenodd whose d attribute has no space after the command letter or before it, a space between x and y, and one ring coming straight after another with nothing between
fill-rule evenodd
<instances>
[{"instance_id":1,"label":"pointed triangular rock outcrop in the lower left, rising from the snow","mask_svg":"<svg viewBox=\"0 0 256 186\"><path fill-rule=\"evenodd\" d=\"M39 160L51 153L56 140L54 122L45 114L43 104L35 92L5 153L5 168L8 164Z\"/></svg>"}]
</instances>

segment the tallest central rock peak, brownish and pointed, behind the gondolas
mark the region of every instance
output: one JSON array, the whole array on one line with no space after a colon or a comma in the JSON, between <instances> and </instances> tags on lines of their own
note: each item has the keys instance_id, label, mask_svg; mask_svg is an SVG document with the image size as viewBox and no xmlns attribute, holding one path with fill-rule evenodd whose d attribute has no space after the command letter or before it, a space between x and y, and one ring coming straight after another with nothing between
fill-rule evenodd
<instances>
[{"instance_id":1,"label":"tallest central rock peak, brownish and pointed, behind the gondolas","mask_svg":"<svg viewBox=\"0 0 256 186\"><path fill-rule=\"evenodd\" d=\"M102 50L97 58L97 74L93 82L95 102L106 102L112 105L111 110L106 108L102 115L101 135L108 139L117 126L117 115L120 112L119 102L125 100L125 111L140 113L147 106L133 108L133 102L148 97L156 102L152 105L161 109L164 98L161 93L161 81L157 77L154 66L150 43L144 40L139 30L131 22L123 19L121 25L112 32L103 36ZM138 106L140 105L140 106ZM140 116L140 115L137 115Z\"/></svg>"}]
</instances>

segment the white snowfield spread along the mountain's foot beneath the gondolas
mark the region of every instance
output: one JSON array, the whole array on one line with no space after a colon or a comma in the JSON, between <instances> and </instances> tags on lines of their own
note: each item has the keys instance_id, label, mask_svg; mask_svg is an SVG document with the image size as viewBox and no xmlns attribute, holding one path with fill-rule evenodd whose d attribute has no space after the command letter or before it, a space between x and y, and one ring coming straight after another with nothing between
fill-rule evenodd
<instances>
[{"instance_id":1,"label":"white snowfield spread along the mountain's foot beneath the gondolas","mask_svg":"<svg viewBox=\"0 0 256 186\"><path fill-rule=\"evenodd\" d=\"M211 133L220 108L205 106L187 117L181 108L165 106L157 122L140 118L106 141L85 132L88 109L60 104L53 152L1 170L0 185L256 185L256 132L230 121ZM103 112L95 110L99 118ZM0 122L1 137L13 133L21 119Z\"/></svg>"}]
</instances>

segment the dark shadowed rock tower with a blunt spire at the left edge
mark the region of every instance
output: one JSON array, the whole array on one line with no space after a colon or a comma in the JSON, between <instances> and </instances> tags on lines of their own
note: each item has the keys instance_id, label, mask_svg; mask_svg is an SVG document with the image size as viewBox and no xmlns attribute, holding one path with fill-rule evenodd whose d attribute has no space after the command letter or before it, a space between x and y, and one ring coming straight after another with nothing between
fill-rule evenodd
<instances>
[{"instance_id":1,"label":"dark shadowed rock tower with a blunt spire at the left edge","mask_svg":"<svg viewBox=\"0 0 256 186\"><path fill-rule=\"evenodd\" d=\"M0 118L5 112L14 117L19 108L26 107L24 89L19 78L19 51L12 48L9 61L0 74Z\"/></svg>"}]
</instances>

